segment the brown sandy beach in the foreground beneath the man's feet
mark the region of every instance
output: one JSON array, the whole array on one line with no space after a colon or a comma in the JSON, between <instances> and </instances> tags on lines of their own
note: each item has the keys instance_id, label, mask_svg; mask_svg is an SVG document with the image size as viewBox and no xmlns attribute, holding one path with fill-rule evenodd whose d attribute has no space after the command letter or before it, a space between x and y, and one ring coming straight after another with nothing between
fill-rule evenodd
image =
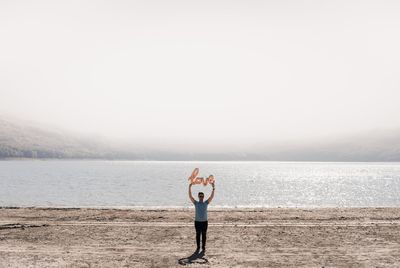
<instances>
[{"instance_id":1,"label":"brown sandy beach in the foreground beneath the man's feet","mask_svg":"<svg viewBox=\"0 0 400 268\"><path fill-rule=\"evenodd\" d=\"M0 267L398 267L400 209L0 209Z\"/></svg>"}]
</instances>

